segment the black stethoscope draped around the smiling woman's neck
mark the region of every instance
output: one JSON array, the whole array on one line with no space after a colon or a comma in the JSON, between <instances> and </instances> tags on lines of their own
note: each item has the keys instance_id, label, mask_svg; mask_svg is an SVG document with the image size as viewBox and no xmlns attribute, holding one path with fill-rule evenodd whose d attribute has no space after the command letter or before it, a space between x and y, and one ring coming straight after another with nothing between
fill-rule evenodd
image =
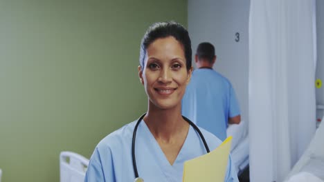
<instances>
[{"instance_id":1,"label":"black stethoscope draped around the smiling woman's neck","mask_svg":"<svg viewBox=\"0 0 324 182\"><path fill-rule=\"evenodd\" d=\"M135 140L136 140L136 132L137 132L137 128L138 128L138 125L139 123L141 123L141 121L143 120L143 118L145 117L145 114L144 113L138 120L137 120L137 123L135 125L135 128L134 128L134 132L133 132L133 141L132 141L132 159L133 159L133 168L134 168L134 173L135 173L135 179L134 179L134 182L143 182L144 180L140 177L138 177L138 171L137 171L137 166L136 166L136 157L135 157ZM209 148L208 148L208 145L206 143L206 140L205 140L205 137L204 135L201 133L201 131L199 130L199 128L197 127L197 125L195 125L194 123L192 123L192 121L190 121L190 119L186 118L186 117L183 117L182 118L184 120L186 120L191 126L192 128L194 128L196 130L196 132L198 132L201 140L203 141L204 143L204 146L206 148L206 151L207 153L210 152Z\"/></svg>"}]
</instances>

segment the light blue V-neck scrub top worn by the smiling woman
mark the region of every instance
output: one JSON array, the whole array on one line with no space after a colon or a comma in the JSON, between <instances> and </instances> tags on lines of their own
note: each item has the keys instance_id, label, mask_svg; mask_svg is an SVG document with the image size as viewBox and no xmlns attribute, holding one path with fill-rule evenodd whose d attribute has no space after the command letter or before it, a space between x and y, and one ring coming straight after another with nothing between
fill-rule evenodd
<instances>
[{"instance_id":1,"label":"light blue V-neck scrub top worn by the smiling woman","mask_svg":"<svg viewBox=\"0 0 324 182\"><path fill-rule=\"evenodd\" d=\"M132 134L135 125L136 121L129 123L98 143L91 156L84 181L134 181ZM199 129L204 134L210 150L217 148L221 141L210 132ZM206 149L199 134L190 126L177 159L173 165L170 165L154 136L142 121L136 133L135 154L138 175L144 181L180 182L183 175L183 163L206 154ZM238 181L231 157L228 161L225 181Z\"/></svg>"}]
</instances>

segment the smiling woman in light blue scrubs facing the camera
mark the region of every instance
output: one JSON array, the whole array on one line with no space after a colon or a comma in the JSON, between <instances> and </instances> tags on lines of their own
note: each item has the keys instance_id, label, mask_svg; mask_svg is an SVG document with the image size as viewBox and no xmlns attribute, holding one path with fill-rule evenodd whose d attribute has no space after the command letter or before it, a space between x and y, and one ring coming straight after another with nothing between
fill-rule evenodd
<instances>
[{"instance_id":1,"label":"smiling woman in light blue scrubs facing the camera","mask_svg":"<svg viewBox=\"0 0 324 182\"><path fill-rule=\"evenodd\" d=\"M183 163L206 154L201 137L181 115L181 99L192 72L191 53L187 30L173 21L154 23L141 41L138 76L148 107L136 130L134 154L138 176L146 182L180 182ZM124 125L98 143L84 181L134 181L136 123ZM210 150L217 148L221 141L200 130ZM231 157L224 181L238 181Z\"/></svg>"}]
</instances>

